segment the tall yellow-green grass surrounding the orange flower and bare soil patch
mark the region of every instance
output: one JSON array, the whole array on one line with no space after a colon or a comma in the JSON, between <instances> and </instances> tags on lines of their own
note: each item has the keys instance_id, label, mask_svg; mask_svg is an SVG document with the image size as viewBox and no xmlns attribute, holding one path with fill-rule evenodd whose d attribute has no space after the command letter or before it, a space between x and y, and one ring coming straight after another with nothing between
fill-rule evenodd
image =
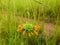
<instances>
[{"instance_id":1,"label":"tall yellow-green grass surrounding the orange flower and bare soil patch","mask_svg":"<svg viewBox=\"0 0 60 45\"><path fill-rule=\"evenodd\" d=\"M39 4L38 2L40 2L41 4ZM55 30L52 34L52 38L46 38L44 43L46 43L46 45L56 45L60 27L60 14L59 10L57 10L58 2L56 0L38 0L38 2L35 2L34 0L0 1L0 45L28 45L28 41L30 39L27 38L25 42L23 41L26 37L23 37L22 35L20 35L20 33L17 32L18 25L25 22L29 22L35 25L42 22L41 30L43 30L42 34L44 35L46 32L46 30L44 29L44 25L46 23L45 20L47 18L47 21L49 21L51 20L51 17L54 18L54 20L53 18L52 20L55 23ZM49 15L50 10L52 10L54 13L52 14L52 16ZM47 14L47 12L49 12L49 14ZM34 38L32 38L32 40L34 41L37 38L39 37L35 36ZM35 45L37 45L37 42L33 43L36 43ZM44 43L41 44L41 42L38 40L38 45L44 45Z\"/></svg>"}]
</instances>

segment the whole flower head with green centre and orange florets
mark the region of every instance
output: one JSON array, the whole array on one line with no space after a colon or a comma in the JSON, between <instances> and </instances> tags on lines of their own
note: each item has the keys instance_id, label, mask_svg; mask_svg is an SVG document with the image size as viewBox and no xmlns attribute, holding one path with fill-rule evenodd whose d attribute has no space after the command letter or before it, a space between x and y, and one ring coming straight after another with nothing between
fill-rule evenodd
<instances>
[{"instance_id":1,"label":"whole flower head with green centre and orange florets","mask_svg":"<svg viewBox=\"0 0 60 45\"><path fill-rule=\"evenodd\" d=\"M31 37L34 34L38 35L39 28L40 28L39 25L33 25L33 24L30 24L30 23L20 24L20 25L18 25L17 32L22 33L23 36L27 33L27 35L29 37Z\"/></svg>"}]
</instances>

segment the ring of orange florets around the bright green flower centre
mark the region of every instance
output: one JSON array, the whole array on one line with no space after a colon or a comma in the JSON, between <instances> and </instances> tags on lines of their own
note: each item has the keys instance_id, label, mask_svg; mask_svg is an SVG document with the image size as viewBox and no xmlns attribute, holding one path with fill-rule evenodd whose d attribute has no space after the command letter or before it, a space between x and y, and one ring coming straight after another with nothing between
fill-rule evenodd
<instances>
[{"instance_id":1,"label":"ring of orange florets around the bright green flower centre","mask_svg":"<svg viewBox=\"0 0 60 45\"><path fill-rule=\"evenodd\" d=\"M28 22L26 22L26 23L28 23ZM39 28L40 28L40 26L39 25L35 25L34 26L34 30L33 30L33 28L32 28L32 31L31 32L26 32L26 30L23 30L23 27L24 27L24 25L23 24L20 24L20 25L18 25L18 30L17 30L17 32L21 32L21 34L22 34L22 36L24 36L25 35L25 33L26 34L28 34L28 37L31 37L31 36L33 36L34 34L35 35L38 35L38 31L37 30L39 30ZM22 31L23 30L23 31ZM29 30L28 30L29 31Z\"/></svg>"}]
</instances>

